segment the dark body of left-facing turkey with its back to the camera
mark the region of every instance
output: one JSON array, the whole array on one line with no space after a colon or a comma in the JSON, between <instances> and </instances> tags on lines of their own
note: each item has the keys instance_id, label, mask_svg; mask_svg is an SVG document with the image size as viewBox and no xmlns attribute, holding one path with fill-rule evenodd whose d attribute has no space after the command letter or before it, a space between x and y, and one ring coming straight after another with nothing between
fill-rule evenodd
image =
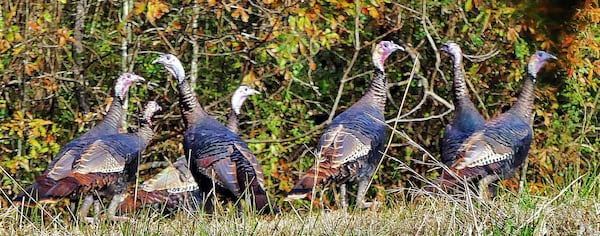
<instances>
[{"instance_id":1,"label":"dark body of left-facing turkey with its back to the camera","mask_svg":"<svg viewBox=\"0 0 600 236\"><path fill-rule=\"evenodd\" d=\"M207 117L188 128L183 146L191 158L192 175L205 194L214 186L217 193L237 200L248 189L258 209L268 207L261 167L238 135Z\"/></svg>"}]
</instances>

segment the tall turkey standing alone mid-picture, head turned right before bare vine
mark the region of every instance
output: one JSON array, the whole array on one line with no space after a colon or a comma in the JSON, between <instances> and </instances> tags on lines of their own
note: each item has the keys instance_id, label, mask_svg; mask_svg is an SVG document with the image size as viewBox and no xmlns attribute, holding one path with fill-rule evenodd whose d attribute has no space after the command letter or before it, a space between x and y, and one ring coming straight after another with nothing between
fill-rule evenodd
<instances>
[{"instance_id":1,"label":"tall turkey standing alone mid-picture, head turned right before bare vine","mask_svg":"<svg viewBox=\"0 0 600 236\"><path fill-rule=\"evenodd\" d=\"M403 50L391 41L382 41L375 47L372 55L375 74L366 94L333 119L317 144L317 165L300 178L286 199L310 197L316 186L325 187L335 182L340 184L340 200L346 209L346 183L358 181L356 205L370 205L364 196L383 155L386 134L384 62L398 49Z\"/></svg>"}]
</instances>

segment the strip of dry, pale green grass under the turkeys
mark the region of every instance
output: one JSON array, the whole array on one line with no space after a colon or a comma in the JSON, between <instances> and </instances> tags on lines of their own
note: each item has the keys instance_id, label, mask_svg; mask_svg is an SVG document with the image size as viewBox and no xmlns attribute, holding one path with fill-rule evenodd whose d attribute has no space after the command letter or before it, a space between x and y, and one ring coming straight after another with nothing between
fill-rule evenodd
<instances>
[{"instance_id":1,"label":"strip of dry, pale green grass under the turkeys","mask_svg":"<svg viewBox=\"0 0 600 236\"><path fill-rule=\"evenodd\" d=\"M145 210L134 222L69 222L65 215L23 216L16 207L0 213L2 235L599 235L600 177L586 175L540 195L500 190L492 202L473 194L404 199L390 193L377 209L292 207L278 216L179 213L164 217ZM405 193L405 191L402 191ZM52 209L52 208L49 208Z\"/></svg>"}]
</instances>

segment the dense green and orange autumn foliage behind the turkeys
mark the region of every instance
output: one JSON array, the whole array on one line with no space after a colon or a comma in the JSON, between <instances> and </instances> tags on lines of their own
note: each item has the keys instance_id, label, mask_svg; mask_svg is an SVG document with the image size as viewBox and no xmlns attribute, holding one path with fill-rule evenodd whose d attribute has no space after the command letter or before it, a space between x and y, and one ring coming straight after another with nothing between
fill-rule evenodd
<instances>
[{"instance_id":1,"label":"dense green and orange autumn foliage behind the turkeys","mask_svg":"<svg viewBox=\"0 0 600 236\"><path fill-rule=\"evenodd\" d=\"M164 109L142 162L182 155L175 82L151 63L158 52L169 52L186 63L200 103L220 120L239 84L262 92L243 107L240 133L262 163L269 191L281 196L312 164L311 148L331 116L362 96L372 72L370 49L382 39L400 42L408 52L393 55L386 68L386 117L401 133L389 142L391 158L384 158L371 197L382 198L384 189L422 185L413 178L417 173L437 175L434 166L423 163L439 156L441 130L452 115L450 59L438 51L449 40L473 55L466 63L468 84L486 118L516 100L532 52L547 50L560 58L538 83L535 137L522 176L532 193L565 186L582 174L597 175L600 165L600 41L595 38L600 10L597 1L567 4L4 1L3 195L20 192L17 183L31 183L61 145L102 118L123 71L147 80L130 91L130 127L137 127L133 117L145 101L156 100ZM515 191L518 179L505 183Z\"/></svg>"}]
</instances>

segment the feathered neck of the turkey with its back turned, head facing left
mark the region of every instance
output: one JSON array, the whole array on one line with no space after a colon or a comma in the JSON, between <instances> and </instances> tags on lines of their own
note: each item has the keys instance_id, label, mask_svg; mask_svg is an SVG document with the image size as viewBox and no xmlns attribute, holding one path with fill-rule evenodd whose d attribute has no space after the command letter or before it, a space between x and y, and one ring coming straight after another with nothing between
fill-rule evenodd
<instances>
[{"instance_id":1,"label":"feathered neck of the turkey with its back turned, head facing left","mask_svg":"<svg viewBox=\"0 0 600 236\"><path fill-rule=\"evenodd\" d=\"M179 108L184 116L185 127L189 127L190 124L195 124L197 120L202 119L208 114L202 109L198 99L192 92L192 88L187 80L177 84L179 89Z\"/></svg>"}]
</instances>

